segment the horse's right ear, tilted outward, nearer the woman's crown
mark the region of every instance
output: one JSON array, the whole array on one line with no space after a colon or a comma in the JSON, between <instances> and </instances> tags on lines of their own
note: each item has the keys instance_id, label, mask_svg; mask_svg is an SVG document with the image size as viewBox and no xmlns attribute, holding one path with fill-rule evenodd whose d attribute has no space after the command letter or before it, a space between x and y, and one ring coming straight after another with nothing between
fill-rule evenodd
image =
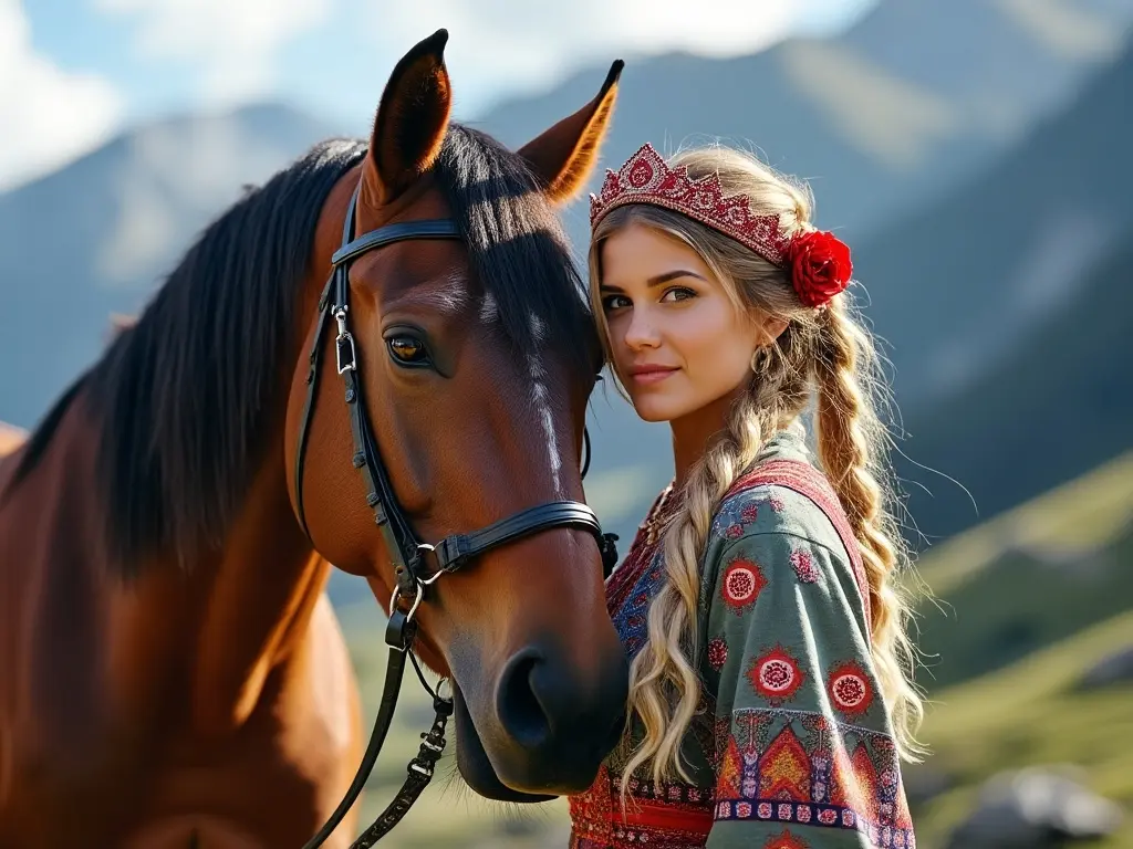
<instances>
[{"instance_id":1,"label":"horse's right ear, tilted outward, nearer the woman's crown","mask_svg":"<svg viewBox=\"0 0 1133 849\"><path fill-rule=\"evenodd\" d=\"M552 203L570 200L590 177L614 111L617 78L624 65L617 59L610 67L597 97L519 149Z\"/></svg>"}]
</instances>

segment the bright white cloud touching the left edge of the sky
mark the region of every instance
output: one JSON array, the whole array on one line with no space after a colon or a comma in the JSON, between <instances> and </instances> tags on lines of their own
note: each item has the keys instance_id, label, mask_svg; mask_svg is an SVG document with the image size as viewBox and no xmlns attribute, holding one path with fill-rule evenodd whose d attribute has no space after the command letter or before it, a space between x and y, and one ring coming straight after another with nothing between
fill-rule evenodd
<instances>
[{"instance_id":1,"label":"bright white cloud touching the left edge of the sky","mask_svg":"<svg viewBox=\"0 0 1133 849\"><path fill-rule=\"evenodd\" d=\"M0 190L105 140L121 113L107 80L36 53L19 0L0 0Z\"/></svg>"}]
</instances>

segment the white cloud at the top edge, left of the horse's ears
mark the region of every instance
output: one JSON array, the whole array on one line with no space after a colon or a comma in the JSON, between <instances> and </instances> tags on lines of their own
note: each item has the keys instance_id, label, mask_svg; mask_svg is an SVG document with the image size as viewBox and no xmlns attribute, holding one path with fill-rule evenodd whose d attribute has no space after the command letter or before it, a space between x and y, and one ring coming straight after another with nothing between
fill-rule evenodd
<instances>
[{"instance_id":1,"label":"white cloud at the top edge, left of the horse's ears","mask_svg":"<svg viewBox=\"0 0 1133 849\"><path fill-rule=\"evenodd\" d=\"M137 48L152 59L199 63L203 94L231 103L271 91L279 50L321 23L332 0L95 0L138 19Z\"/></svg>"}]
</instances>

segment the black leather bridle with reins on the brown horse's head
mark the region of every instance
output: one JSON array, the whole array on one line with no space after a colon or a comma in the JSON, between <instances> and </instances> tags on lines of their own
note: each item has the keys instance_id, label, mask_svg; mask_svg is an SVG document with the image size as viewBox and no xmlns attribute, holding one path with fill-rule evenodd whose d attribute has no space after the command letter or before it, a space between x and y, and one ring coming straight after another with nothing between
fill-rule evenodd
<instances>
[{"instance_id":1,"label":"black leather bridle with reins on the brown horse's head","mask_svg":"<svg viewBox=\"0 0 1133 849\"><path fill-rule=\"evenodd\" d=\"M366 488L366 504L374 511L374 522L381 529L386 551L393 560L395 586L390 598L390 620L385 629L385 642L390 648L390 658L374 730L370 734L369 745L366 747L366 754L363 756L358 772L334 813L318 830L318 833L304 846L304 849L315 849L323 844L353 805L369 778L393 721L407 657L412 662L421 685L433 696L436 718L429 731L421 735L420 751L409 763L408 775L401 790L382 815L351 844L351 849L365 849L365 847L370 847L381 840L409 812L410 806L433 778L436 762L444 751L444 729L452 714L452 700L441 696L428 686L417 659L411 652L417 634L417 624L414 617L425 600L426 590L431 584L442 575L467 566L485 551L555 528L577 528L594 534L602 552L605 575L608 576L617 563L617 550L614 544L617 537L612 533L603 533L597 515L581 501L560 500L528 507L478 531L445 537L436 544L423 542L414 532L412 525L393 494L393 486L390 482L385 464L382 462L363 401L355 340L347 323L350 310L350 264L367 251L393 242L410 239L462 240L463 237L457 222L451 218L435 218L387 224L355 239L355 216L360 189L361 182L359 181L350 199L346 223L342 228L342 247L331 257L331 275L318 299L315 338L308 357L307 398L304 404L296 447L295 498L299 524L309 539L310 532L307 529L303 506L303 466L307 431L315 409L323 345L327 327L333 318L338 328L338 334L334 337L335 366L346 384L344 398L350 412L350 430L353 435L352 463L355 469L361 473ZM582 475L585 477L590 465L590 438L586 430L583 430L582 436L586 448L586 461L582 466ZM434 561L432 568L426 566L426 559ZM438 686L437 689L440 691L441 687Z\"/></svg>"}]
</instances>

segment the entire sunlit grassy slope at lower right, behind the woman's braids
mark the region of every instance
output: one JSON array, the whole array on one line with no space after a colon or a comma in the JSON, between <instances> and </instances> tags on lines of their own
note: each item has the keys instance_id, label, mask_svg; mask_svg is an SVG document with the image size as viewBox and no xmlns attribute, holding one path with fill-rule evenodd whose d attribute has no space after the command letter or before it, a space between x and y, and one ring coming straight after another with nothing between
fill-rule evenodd
<instances>
[{"instance_id":1,"label":"entire sunlit grassy slope at lower right, behind the woman's braids","mask_svg":"<svg viewBox=\"0 0 1133 849\"><path fill-rule=\"evenodd\" d=\"M987 778L1030 764L1081 766L1133 808L1133 685L1075 687L1133 644L1131 565L1133 452L922 560L945 612L922 611L919 642L939 660L921 738L952 787L914 807L919 844L943 846ZM1133 817L1104 846L1133 849Z\"/></svg>"}]
</instances>

